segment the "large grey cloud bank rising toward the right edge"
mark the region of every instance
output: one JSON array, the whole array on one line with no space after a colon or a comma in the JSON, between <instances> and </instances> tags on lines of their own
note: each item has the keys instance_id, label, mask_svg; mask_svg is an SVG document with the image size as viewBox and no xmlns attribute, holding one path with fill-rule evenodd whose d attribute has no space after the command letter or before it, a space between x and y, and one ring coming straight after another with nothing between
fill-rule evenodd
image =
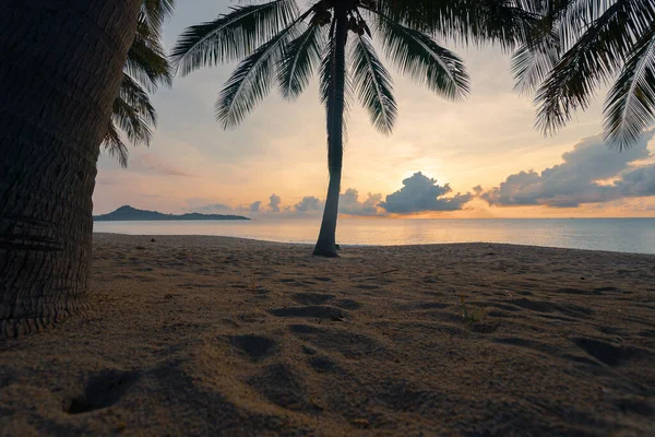
<instances>
[{"instance_id":1,"label":"large grey cloud bank rising toward the right edge","mask_svg":"<svg viewBox=\"0 0 655 437\"><path fill-rule=\"evenodd\" d=\"M583 139L562 155L562 164L541 173L531 169L510 175L480 198L490 205L575 208L583 203L655 196L655 165L634 167L635 162L650 156L646 146L653 133L622 153L609 150L602 135Z\"/></svg>"}]
</instances>

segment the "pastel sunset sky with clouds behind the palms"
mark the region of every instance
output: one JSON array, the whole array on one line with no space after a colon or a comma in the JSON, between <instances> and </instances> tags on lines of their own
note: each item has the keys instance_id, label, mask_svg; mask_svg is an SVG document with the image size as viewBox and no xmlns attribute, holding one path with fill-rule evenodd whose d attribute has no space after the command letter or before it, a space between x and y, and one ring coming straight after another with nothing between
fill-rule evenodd
<instances>
[{"instance_id":1,"label":"pastel sunset sky with clouds behind the palms","mask_svg":"<svg viewBox=\"0 0 655 437\"><path fill-rule=\"evenodd\" d=\"M187 26L228 12L230 4L179 2L165 28L165 46ZM606 88L547 138L534 128L533 96L513 91L509 54L441 43L464 59L471 94L463 102L444 101L386 62L398 118L392 134L381 134L353 102L342 215L655 216L655 139L648 133L623 153L603 143ZM171 88L153 96L158 126L151 146L131 149L128 169L100 156L95 214L123 204L255 217L321 213L327 165L318 81L291 103L273 90L240 126L224 130L214 104L235 67L177 76Z\"/></svg>"}]
</instances>

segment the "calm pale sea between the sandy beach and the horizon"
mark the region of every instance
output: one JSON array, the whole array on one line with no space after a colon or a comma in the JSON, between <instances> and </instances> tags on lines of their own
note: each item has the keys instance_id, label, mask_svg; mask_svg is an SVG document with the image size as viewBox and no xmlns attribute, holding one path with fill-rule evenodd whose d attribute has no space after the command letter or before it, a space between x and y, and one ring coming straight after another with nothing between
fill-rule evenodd
<instances>
[{"instance_id":1,"label":"calm pale sea between the sandy beach and the horizon","mask_svg":"<svg viewBox=\"0 0 655 437\"><path fill-rule=\"evenodd\" d=\"M132 235L222 235L283 243L314 243L320 218L96 222L94 232ZM655 218L340 218L343 245L510 243L574 249L655 253Z\"/></svg>"}]
</instances>

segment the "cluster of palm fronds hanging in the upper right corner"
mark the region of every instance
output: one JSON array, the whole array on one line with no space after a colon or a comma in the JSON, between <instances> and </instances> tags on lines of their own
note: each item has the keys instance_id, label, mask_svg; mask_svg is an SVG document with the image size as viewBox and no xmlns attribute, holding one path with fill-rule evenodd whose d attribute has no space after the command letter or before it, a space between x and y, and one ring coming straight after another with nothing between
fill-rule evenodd
<instances>
[{"instance_id":1,"label":"cluster of palm fronds hanging in the upper right corner","mask_svg":"<svg viewBox=\"0 0 655 437\"><path fill-rule=\"evenodd\" d=\"M655 121L655 1L532 0L529 9L539 25L513 67L519 91L538 86L537 126L557 131L616 78L605 99L605 139L618 150L634 144Z\"/></svg>"}]
</instances>

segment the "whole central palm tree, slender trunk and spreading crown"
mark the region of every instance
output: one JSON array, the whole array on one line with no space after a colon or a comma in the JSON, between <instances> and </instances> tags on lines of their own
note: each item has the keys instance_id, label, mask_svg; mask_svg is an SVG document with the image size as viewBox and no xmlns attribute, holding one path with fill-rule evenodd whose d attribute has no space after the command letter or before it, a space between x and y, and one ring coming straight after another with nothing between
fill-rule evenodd
<instances>
[{"instance_id":1,"label":"whole central palm tree, slender trunk and spreading crown","mask_svg":"<svg viewBox=\"0 0 655 437\"><path fill-rule=\"evenodd\" d=\"M293 101L320 70L330 182L313 250L318 256L336 257L344 111L349 94L357 93L379 131L390 133L396 119L391 75L373 39L402 73L439 95L458 99L468 92L468 76L456 55L421 32L420 23L385 10L374 0L320 0L303 10L295 0L238 5L214 21L189 27L171 52L182 74L243 58L216 103L216 117L225 128L238 125L275 82L281 94Z\"/></svg>"}]
</instances>

